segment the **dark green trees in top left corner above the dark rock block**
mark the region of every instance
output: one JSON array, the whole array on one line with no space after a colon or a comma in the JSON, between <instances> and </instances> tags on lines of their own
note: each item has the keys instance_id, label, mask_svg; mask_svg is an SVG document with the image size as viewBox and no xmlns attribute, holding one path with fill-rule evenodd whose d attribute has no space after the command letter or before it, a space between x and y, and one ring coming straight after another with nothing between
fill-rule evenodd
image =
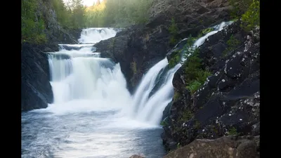
<instances>
[{"instance_id":1,"label":"dark green trees in top left corner above the dark rock block","mask_svg":"<svg viewBox=\"0 0 281 158\"><path fill-rule=\"evenodd\" d=\"M22 42L30 42L32 44L42 44L46 42L45 23L42 15L37 15L37 1L22 1L21 9L21 32Z\"/></svg>"}]
</instances>

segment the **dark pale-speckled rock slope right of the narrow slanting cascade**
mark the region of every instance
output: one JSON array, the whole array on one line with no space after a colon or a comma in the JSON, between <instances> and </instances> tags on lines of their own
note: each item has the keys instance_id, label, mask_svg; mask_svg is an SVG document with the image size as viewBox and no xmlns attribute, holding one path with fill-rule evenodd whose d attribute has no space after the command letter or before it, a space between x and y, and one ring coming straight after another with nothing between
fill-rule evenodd
<instances>
[{"instance_id":1,"label":"dark pale-speckled rock slope right of the narrow slanting cascade","mask_svg":"<svg viewBox=\"0 0 281 158\"><path fill-rule=\"evenodd\" d=\"M240 44L230 49L233 38ZM192 95L185 88L185 61L174 75L177 97L162 133L167 150L195 139L259 135L259 55L259 28L244 32L237 21L200 46L200 58L212 75Z\"/></svg>"}]
</instances>

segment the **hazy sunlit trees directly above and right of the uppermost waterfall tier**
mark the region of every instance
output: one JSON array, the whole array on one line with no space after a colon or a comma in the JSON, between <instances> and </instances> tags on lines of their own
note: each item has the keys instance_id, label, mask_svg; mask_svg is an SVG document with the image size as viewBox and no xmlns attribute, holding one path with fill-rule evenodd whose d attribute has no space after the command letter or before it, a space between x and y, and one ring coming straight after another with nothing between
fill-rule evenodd
<instances>
[{"instance_id":1,"label":"hazy sunlit trees directly above and right of the uppermost waterfall tier","mask_svg":"<svg viewBox=\"0 0 281 158\"><path fill-rule=\"evenodd\" d=\"M152 0L107 0L86 9L87 27L127 27L148 21Z\"/></svg>"}]
</instances>

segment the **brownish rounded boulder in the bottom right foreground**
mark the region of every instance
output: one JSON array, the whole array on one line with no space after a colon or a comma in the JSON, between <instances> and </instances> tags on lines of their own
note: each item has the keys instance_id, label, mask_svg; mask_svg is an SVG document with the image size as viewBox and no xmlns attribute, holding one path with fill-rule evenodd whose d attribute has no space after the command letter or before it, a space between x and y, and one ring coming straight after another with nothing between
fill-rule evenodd
<instances>
[{"instance_id":1,"label":"brownish rounded boulder in the bottom right foreground","mask_svg":"<svg viewBox=\"0 0 281 158\"><path fill-rule=\"evenodd\" d=\"M192 143L169 152L163 158L258 158L259 137L224 136L214 140L197 139Z\"/></svg>"}]
</instances>

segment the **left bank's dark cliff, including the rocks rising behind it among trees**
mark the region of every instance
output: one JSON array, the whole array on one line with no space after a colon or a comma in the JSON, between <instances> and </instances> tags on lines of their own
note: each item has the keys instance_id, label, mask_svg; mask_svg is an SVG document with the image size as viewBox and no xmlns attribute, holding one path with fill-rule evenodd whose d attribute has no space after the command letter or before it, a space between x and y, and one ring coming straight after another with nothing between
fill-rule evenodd
<instances>
[{"instance_id":1,"label":"left bank's dark cliff, including the rocks rising behind it among trees","mask_svg":"<svg viewBox=\"0 0 281 158\"><path fill-rule=\"evenodd\" d=\"M58 51L58 44L77 44L80 30L65 30L56 20L51 0L37 1L37 17L45 21L46 44L22 44L22 111L45 108L53 102L53 92L49 83L47 55L43 52ZM79 33L78 33L79 32Z\"/></svg>"}]
</instances>

